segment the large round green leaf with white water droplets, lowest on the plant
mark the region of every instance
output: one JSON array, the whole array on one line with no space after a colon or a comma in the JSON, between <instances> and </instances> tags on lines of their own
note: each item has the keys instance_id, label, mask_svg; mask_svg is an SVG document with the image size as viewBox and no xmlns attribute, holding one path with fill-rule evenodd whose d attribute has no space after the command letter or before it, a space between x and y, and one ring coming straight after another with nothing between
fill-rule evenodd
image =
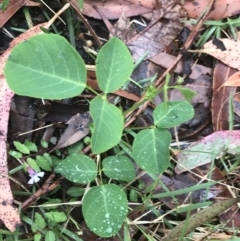
<instances>
[{"instance_id":1,"label":"large round green leaf with white water droplets, lowest on the plant","mask_svg":"<svg viewBox=\"0 0 240 241\"><path fill-rule=\"evenodd\" d=\"M127 216L127 198L115 184L92 187L84 196L82 210L87 226L101 237L115 235Z\"/></svg>"}]
</instances>

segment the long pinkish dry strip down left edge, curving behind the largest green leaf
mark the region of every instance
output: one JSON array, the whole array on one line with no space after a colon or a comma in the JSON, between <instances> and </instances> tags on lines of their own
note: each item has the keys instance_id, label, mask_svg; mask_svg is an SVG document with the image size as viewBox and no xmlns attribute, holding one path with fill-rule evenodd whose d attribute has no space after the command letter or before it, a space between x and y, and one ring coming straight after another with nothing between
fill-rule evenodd
<instances>
[{"instance_id":1,"label":"long pinkish dry strip down left edge, curving behind the largest green leaf","mask_svg":"<svg viewBox=\"0 0 240 241\"><path fill-rule=\"evenodd\" d=\"M15 231L16 226L21 223L20 216L17 210L12 206L13 195L11 192L7 168L7 130L8 119L10 112L11 99L14 93L9 89L6 79L3 74L3 66L5 65L11 50L20 42L27 40L33 35L42 33L40 27L49 28L56 17L65 11L70 5L66 4L57 15L53 17L48 23L39 24L27 32L21 34L10 43L10 47L0 56L0 220L10 231Z\"/></svg>"}]
</instances>

